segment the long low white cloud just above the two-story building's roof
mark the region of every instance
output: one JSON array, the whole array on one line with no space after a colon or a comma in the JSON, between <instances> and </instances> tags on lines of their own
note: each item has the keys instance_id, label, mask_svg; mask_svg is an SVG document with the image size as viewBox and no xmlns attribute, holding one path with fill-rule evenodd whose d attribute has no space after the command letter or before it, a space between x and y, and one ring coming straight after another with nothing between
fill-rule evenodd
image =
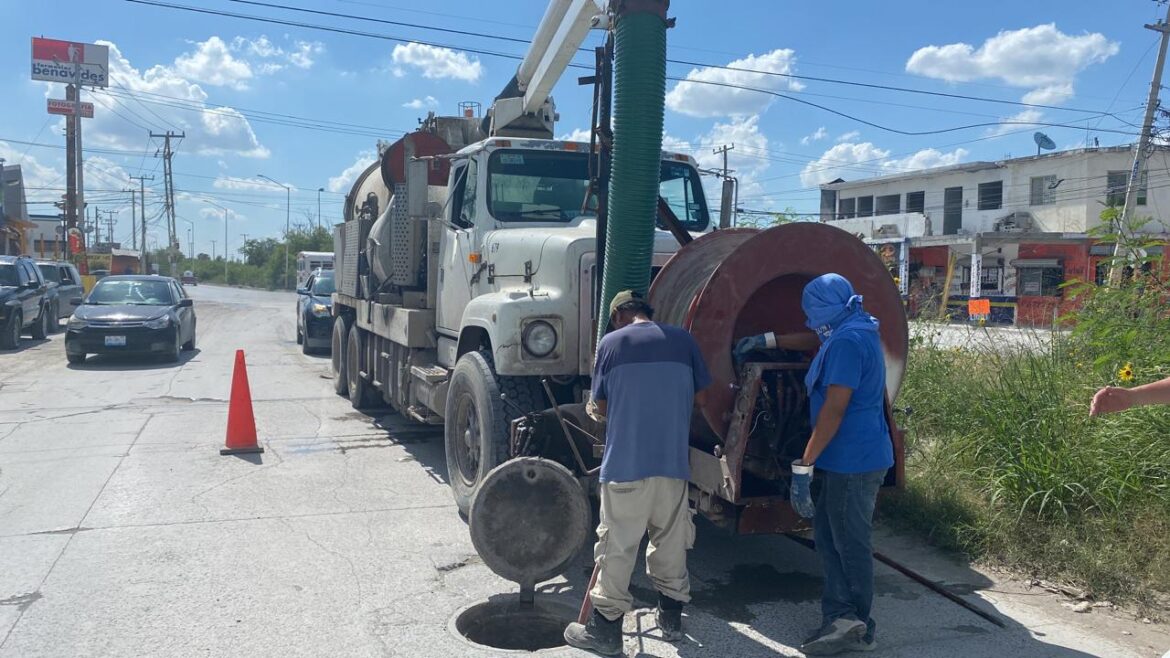
<instances>
[{"instance_id":1,"label":"long low white cloud just above the two-story building's roof","mask_svg":"<svg viewBox=\"0 0 1170 658\"><path fill-rule=\"evenodd\" d=\"M848 180L949 166L963 162L966 156L965 149L955 149L950 152L923 149L902 158L892 158L888 150L881 149L872 142L842 142L806 164L800 172L800 183L806 187L815 187L838 178Z\"/></svg>"}]
</instances>

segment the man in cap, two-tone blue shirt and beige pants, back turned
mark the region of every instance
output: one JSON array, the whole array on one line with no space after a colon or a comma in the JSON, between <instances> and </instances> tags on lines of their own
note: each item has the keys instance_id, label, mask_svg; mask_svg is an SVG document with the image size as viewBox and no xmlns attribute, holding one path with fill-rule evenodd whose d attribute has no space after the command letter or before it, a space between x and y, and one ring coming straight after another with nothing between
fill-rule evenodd
<instances>
[{"instance_id":1,"label":"man in cap, two-tone blue shirt and beige pants, back turned","mask_svg":"<svg viewBox=\"0 0 1170 658\"><path fill-rule=\"evenodd\" d=\"M569 624L565 642L614 656L621 652L621 621L633 604L629 576L647 532L646 573L659 591L658 625L663 638L682 638L682 606L690 601L687 550L695 541L687 502L690 414L711 378L695 338L654 322L654 309L638 294L618 293L610 320L615 330L601 338L593 366L592 397L606 418L593 612L585 624Z\"/></svg>"}]
</instances>

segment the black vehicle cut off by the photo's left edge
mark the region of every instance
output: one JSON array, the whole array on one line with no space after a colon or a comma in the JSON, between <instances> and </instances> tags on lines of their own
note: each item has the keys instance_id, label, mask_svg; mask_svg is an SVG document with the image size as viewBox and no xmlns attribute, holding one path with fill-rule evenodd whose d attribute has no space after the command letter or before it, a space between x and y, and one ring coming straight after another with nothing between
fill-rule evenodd
<instances>
[{"instance_id":1,"label":"black vehicle cut off by the photo's left edge","mask_svg":"<svg viewBox=\"0 0 1170 658\"><path fill-rule=\"evenodd\" d=\"M0 255L0 349L16 349L26 330L37 340L53 333L56 301L56 288L46 283L36 261Z\"/></svg>"}]
</instances>

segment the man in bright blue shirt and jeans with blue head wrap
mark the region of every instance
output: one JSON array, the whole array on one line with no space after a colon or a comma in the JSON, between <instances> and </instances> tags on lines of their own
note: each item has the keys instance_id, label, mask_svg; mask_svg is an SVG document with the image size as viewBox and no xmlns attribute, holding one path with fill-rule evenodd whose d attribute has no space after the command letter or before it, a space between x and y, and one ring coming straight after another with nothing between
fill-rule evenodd
<instances>
[{"instance_id":1,"label":"man in bright blue shirt and jeans with blue head wrap","mask_svg":"<svg viewBox=\"0 0 1170 658\"><path fill-rule=\"evenodd\" d=\"M737 343L736 354L742 358L759 349L818 350L805 378L812 437L804 457L792 462L790 501L801 516L814 519L825 580L821 625L800 651L870 651L876 647L869 615L873 512L894 465L878 320L839 274L813 279L800 302L812 334L749 336ZM815 505L810 492L814 469L820 486Z\"/></svg>"}]
</instances>

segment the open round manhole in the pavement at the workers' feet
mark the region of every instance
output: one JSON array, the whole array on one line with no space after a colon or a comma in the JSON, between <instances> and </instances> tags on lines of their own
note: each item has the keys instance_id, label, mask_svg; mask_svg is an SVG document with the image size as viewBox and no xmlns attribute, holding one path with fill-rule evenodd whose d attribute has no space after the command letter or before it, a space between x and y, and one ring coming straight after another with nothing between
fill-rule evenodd
<instances>
[{"instance_id":1,"label":"open round manhole in the pavement at the workers' feet","mask_svg":"<svg viewBox=\"0 0 1170 658\"><path fill-rule=\"evenodd\" d=\"M455 614L452 631L469 642L504 651L539 651L564 646L565 626L577 619L567 603L517 595L495 596Z\"/></svg>"}]
</instances>

